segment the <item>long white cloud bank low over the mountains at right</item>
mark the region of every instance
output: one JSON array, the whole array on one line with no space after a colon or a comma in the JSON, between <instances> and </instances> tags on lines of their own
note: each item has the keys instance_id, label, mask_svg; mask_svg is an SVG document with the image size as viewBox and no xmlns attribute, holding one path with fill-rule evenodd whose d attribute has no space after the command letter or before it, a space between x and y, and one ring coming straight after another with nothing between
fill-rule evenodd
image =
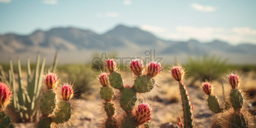
<instances>
[{"instance_id":1,"label":"long white cloud bank low over the mountains at right","mask_svg":"<svg viewBox=\"0 0 256 128\"><path fill-rule=\"evenodd\" d=\"M174 31L179 31L168 36L168 38L175 40L189 40L193 38L203 42L211 41L213 39L221 39L228 41L232 44L238 44L240 42L256 43L256 29L252 29L249 27L186 27L184 29L182 28L184 28L184 26L177 26L176 30ZM168 34L171 34L171 32Z\"/></svg>"}]
</instances>

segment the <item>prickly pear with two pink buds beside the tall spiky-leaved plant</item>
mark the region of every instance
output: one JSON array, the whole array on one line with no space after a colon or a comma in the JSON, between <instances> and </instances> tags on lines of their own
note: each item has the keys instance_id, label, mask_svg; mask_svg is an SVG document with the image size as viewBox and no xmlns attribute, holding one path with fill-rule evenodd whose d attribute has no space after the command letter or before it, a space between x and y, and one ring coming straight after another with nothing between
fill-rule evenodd
<instances>
[{"instance_id":1,"label":"prickly pear with two pink buds beside the tall spiky-leaved plant","mask_svg":"<svg viewBox=\"0 0 256 128\"><path fill-rule=\"evenodd\" d=\"M69 84L64 84L56 88L57 76L48 73L45 79L45 86L40 100L40 111L42 118L37 128L51 128L52 122L62 124L71 118L72 107L69 99L73 97L73 88ZM57 94L60 92L60 94Z\"/></svg>"}]
</instances>

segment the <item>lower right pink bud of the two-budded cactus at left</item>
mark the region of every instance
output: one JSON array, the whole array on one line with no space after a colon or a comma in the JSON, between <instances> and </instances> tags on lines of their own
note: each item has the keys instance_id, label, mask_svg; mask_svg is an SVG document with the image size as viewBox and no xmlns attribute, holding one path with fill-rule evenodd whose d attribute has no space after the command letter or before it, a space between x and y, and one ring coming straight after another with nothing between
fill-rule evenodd
<instances>
[{"instance_id":1,"label":"lower right pink bud of the two-budded cactus at left","mask_svg":"<svg viewBox=\"0 0 256 128\"><path fill-rule=\"evenodd\" d=\"M73 88L72 88L72 85L69 85L69 84L64 84L61 88L61 96L62 96L62 99L67 101L69 100L70 98L73 97Z\"/></svg>"}]
</instances>

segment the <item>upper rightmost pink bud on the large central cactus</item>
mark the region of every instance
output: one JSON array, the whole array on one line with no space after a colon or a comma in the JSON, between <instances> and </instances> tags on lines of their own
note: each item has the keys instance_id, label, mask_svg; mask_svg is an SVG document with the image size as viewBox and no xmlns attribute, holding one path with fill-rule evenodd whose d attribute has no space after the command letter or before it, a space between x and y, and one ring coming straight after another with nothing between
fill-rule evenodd
<instances>
[{"instance_id":1,"label":"upper rightmost pink bud on the large central cactus","mask_svg":"<svg viewBox=\"0 0 256 128\"><path fill-rule=\"evenodd\" d=\"M147 75L150 78L155 77L157 74L162 72L161 64L156 62L151 62L147 65Z\"/></svg>"}]
</instances>

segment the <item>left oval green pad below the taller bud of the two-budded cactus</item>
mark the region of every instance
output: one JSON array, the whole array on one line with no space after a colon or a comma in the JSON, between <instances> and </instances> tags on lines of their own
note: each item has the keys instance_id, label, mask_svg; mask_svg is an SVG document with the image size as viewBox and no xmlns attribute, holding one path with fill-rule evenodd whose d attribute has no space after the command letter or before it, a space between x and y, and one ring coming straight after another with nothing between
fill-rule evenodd
<instances>
[{"instance_id":1,"label":"left oval green pad below the taller bud of the two-budded cactus","mask_svg":"<svg viewBox=\"0 0 256 128\"><path fill-rule=\"evenodd\" d=\"M51 114L55 108L55 93L51 89L49 91L43 92L40 101L40 110L45 117Z\"/></svg>"}]
</instances>

